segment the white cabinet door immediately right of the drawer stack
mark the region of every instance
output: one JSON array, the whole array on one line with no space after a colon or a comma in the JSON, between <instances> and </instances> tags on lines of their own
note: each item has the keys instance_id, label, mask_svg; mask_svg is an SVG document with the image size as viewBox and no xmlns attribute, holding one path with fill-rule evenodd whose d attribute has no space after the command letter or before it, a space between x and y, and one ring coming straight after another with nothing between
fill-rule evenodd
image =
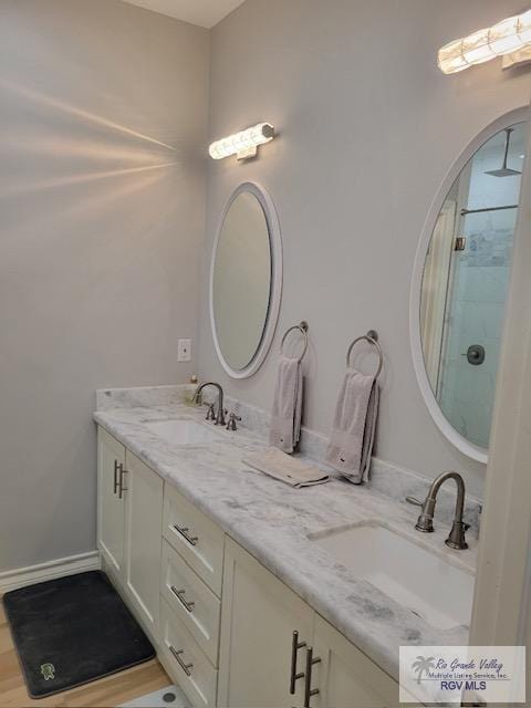
<instances>
[{"instance_id":1,"label":"white cabinet door immediately right of the drawer stack","mask_svg":"<svg viewBox=\"0 0 531 708\"><path fill-rule=\"evenodd\" d=\"M302 706L303 679L290 694L293 632L311 642L313 611L238 544L227 539L221 604L218 706ZM303 670L304 649L295 673Z\"/></svg>"}]
</instances>

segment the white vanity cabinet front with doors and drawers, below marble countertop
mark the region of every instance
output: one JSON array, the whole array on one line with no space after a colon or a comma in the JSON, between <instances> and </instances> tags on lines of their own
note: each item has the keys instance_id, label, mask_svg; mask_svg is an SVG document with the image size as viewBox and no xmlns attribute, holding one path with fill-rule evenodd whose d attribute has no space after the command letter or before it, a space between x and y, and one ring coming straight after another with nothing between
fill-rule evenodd
<instances>
[{"instance_id":1,"label":"white vanity cabinet front with doors and drawers, below marble countertop","mask_svg":"<svg viewBox=\"0 0 531 708\"><path fill-rule=\"evenodd\" d=\"M97 475L103 565L191 706L398 706L387 674L103 428Z\"/></svg>"}]
</instances>

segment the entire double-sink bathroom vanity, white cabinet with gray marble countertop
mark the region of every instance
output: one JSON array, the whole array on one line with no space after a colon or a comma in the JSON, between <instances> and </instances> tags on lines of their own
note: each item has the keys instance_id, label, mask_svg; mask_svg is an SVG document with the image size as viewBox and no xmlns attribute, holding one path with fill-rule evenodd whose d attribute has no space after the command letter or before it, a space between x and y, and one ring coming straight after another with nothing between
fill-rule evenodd
<instances>
[{"instance_id":1,"label":"entire double-sink bathroom vanity, white cabinet with gray marble countertop","mask_svg":"<svg viewBox=\"0 0 531 708\"><path fill-rule=\"evenodd\" d=\"M102 564L169 676L194 706L397 706L400 643L467 642L473 541L451 552L441 528L418 545L407 504L251 471L242 456L263 438L204 423L177 389L128 403L104 392L95 414ZM448 615L418 616L407 596L356 577L342 553L374 543L355 535L367 528L425 553Z\"/></svg>"}]
</instances>

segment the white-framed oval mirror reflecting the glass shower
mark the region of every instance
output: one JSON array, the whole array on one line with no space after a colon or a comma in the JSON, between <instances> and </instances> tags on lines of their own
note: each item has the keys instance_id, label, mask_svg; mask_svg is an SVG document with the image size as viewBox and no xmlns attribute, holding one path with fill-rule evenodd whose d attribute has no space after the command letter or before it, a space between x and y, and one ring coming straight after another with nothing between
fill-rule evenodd
<instances>
[{"instance_id":1,"label":"white-framed oval mirror reflecting the glass shower","mask_svg":"<svg viewBox=\"0 0 531 708\"><path fill-rule=\"evenodd\" d=\"M412 280L420 392L461 452L486 464L529 108L494 121L451 167L430 207Z\"/></svg>"}]
</instances>

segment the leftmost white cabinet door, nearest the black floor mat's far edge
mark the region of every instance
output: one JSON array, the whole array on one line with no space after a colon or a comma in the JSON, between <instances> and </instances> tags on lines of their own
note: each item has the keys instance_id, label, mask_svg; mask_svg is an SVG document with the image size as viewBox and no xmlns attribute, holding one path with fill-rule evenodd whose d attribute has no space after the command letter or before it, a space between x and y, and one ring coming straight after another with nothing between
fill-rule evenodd
<instances>
[{"instance_id":1,"label":"leftmost white cabinet door, nearest the black floor mat's far edge","mask_svg":"<svg viewBox=\"0 0 531 708\"><path fill-rule=\"evenodd\" d=\"M110 570L124 576L125 500L119 493L119 470L125 448L103 428L97 429L97 548Z\"/></svg>"}]
</instances>

